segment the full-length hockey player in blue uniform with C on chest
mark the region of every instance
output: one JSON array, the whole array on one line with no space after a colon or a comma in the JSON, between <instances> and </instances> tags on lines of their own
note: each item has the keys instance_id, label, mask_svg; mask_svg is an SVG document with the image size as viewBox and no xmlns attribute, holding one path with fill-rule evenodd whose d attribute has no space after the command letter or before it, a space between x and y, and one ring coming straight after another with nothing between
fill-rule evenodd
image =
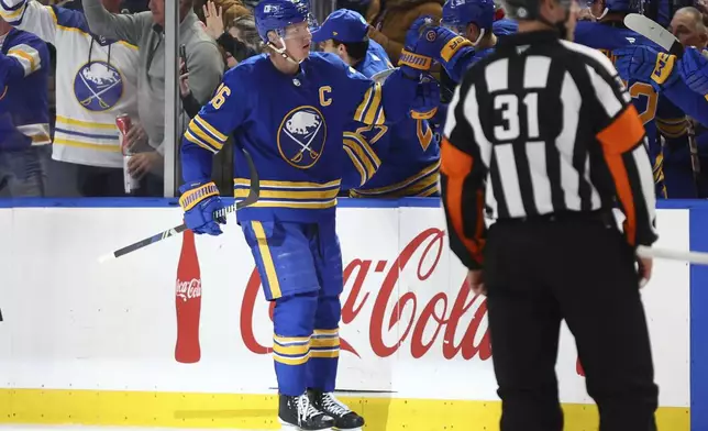
<instances>
[{"instance_id":1,"label":"full-length hockey player in blue uniform with C on chest","mask_svg":"<svg viewBox=\"0 0 708 431\"><path fill-rule=\"evenodd\" d=\"M411 29L400 67L378 85L329 53L310 53L307 0L262 0L255 8L267 54L229 70L191 121L181 145L179 199L195 233L218 235L212 155L229 136L253 158L261 197L239 211L265 297L275 301L273 357L278 418L300 430L359 429L364 419L334 396L343 289L335 206L345 161L344 129L396 123L440 49ZM428 35L429 32L425 32ZM235 152L234 196L248 194L246 161Z\"/></svg>"}]
</instances>

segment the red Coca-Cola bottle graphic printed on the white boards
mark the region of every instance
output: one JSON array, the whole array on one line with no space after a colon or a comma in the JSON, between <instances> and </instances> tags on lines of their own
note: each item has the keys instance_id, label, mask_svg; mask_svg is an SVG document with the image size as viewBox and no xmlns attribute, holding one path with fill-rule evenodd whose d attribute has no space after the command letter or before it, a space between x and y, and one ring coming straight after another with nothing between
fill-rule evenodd
<instances>
[{"instance_id":1,"label":"red Coca-Cola bottle graphic printed on the white boards","mask_svg":"<svg viewBox=\"0 0 708 431\"><path fill-rule=\"evenodd\" d=\"M182 234L175 294L175 308L177 309L175 360L182 364L193 364L199 362L201 357L201 347L199 346L201 274L195 233L190 230L186 230Z\"/></svg>"}]
</instances>

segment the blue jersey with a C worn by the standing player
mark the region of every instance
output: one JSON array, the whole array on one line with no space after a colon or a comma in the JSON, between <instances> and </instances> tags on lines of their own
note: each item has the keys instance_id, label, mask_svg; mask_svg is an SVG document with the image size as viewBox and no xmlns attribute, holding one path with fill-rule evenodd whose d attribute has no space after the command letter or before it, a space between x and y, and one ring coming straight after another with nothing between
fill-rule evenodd
<instances>
[{"instance_id":1,"label":"blue jersey with a C worn by the standing player","mask_svg":"<svg viewBox=\"0 0 708 431\"><path fill-rule=\"evenodd\" d=\"M225 74L213 99L189 124L181 146L184 179L209 181L211 154L233 135L261 178L261 198L239 211L240 220L316 222L333 217L347 162L345 128L352 121L375 126L399 121L417 85L400 70L384 86L375 84L328 53L312 53L294 76L280 73L267 55L251 57ZM244 198L251 178L240 152L234 174L234 196Z\"/></svg>"}]
</instances>

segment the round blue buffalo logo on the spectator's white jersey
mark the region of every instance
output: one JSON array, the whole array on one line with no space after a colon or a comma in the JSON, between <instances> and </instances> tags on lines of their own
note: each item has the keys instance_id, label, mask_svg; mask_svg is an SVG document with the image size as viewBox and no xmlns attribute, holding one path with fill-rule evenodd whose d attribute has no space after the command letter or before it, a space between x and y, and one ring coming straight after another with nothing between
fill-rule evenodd
<instances>
[{"instance_id":1,"label":"round blue buffalo logo on the spectator's white jersey","mask_svg":"<svg viewBox=\"0 0 708 431\"><path fill-rule=\"evenodd\" d=\"M106 111L113 108L123 96L123 78L110 64L91 62L76 74L74 95L89 111Z\"/></svg>"}]
</instances>

